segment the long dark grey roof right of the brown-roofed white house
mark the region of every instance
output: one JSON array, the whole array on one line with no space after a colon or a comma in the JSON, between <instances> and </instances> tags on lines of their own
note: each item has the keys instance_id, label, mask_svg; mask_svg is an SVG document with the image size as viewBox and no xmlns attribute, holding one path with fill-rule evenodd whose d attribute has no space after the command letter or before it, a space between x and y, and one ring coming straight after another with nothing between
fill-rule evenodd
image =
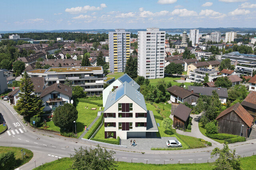
<instances>
[{"instance_id":1,"label":"long dark grey roof right of the brown-roofed white house","mask_svg":"<svg viewBox=\"0 0 256 170\"><path fill-rule=\"evenodd\" d=\"M216 90L219 97L227 98L228 97L228 90L227 88L218 88L217 87L202 87L202 86L188 86L188 90L192 90L194 93L212 96L212 91Z\"/></svg>"}]
</instances>

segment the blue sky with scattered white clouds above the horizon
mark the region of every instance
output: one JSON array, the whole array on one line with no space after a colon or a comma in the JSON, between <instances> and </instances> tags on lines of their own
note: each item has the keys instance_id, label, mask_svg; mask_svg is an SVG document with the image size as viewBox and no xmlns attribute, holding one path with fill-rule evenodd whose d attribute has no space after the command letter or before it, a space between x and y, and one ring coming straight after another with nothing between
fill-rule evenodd
<instances>
[{"instance_id":1,"label":"blue sky with scattered white clouds above the horizon","mask_svg":"<svg viewBox=\"0 0 256 170\"><path fill-rule=\"evenodd\" d=\"M0 31L256 27L256 0L2 0Z\"/></svg>"}]
</instances>

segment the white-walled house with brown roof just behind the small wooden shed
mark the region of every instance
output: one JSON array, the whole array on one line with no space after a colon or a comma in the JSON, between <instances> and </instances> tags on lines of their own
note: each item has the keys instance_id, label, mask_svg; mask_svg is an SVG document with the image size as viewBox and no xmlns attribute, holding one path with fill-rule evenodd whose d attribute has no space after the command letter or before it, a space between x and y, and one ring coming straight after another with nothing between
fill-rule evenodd
<instances>
[{"instance_id":1,"label":"white-walled house with brown roof just behind the small wooden shed","mask_svg":"<svg viewBox=\"0 0 256 170\"><path fill-rule=\"evenodd\" d=\"M175 103L188 102L188 104L196 105L197 100L200 97L198 94L178 86L172 86L166 90L171 94L170 101Z\"/></svg>"}]
</instances>

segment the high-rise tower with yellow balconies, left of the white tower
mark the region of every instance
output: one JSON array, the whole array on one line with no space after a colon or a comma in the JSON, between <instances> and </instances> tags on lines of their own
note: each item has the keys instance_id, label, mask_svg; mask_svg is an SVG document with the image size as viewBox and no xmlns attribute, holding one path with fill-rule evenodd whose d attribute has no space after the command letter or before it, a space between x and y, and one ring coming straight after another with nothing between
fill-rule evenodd
<instances>
[{"instance_id":1,"label":"high-rise tower with yellow balconies, left of the white tower","mask_svg":"<svg viewBox=\"0 0 256 170\"><path fill-rule=\"evenodd\" d=\"M130 32L116 29L108 33L109 68L111 72L124 72L126 61L130 57Z\"/></svg>"}]
</instances>

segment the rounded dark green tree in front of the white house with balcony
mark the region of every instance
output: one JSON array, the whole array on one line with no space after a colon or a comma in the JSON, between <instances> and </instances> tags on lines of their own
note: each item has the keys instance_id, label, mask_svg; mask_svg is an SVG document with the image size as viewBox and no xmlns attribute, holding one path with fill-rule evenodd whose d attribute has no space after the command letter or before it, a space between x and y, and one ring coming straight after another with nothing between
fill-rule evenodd
<instances>
[{"instance_id":1,"label":"rounded dark green tree in front of the white house with balcony","mask_svg":"<svg viewBox=\"0 0 256 170\"><path fill-rule=\"evenodd\" d=\"M52 121L54 125L60 127L60 130L70 131L76 121L78 111L72 104L65 103L63 106L58 106L54 111Z\"/></svg>"}]
</instances>

